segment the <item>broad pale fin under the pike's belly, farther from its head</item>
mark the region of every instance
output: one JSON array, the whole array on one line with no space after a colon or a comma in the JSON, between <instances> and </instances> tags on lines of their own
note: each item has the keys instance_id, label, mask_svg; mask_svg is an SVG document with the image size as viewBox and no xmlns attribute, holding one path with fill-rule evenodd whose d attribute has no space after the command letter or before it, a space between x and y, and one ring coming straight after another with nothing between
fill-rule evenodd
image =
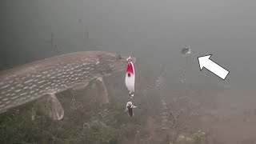
<instances>
[{"instance_id":1,"label":"broad pale fin under the pike's belly, farther from its head","mask_svg":"<svg viewBox=\"0 0 256 144\"><path fill-rule=\"evenodd\" d=\"M32 109L32 120L34 120L37 111L48 115L54 120L61 120L64 116L62 104L58 101L55 94L49 94L45 98L42 98L35 103Z\"/></svg>"}]
</instances>

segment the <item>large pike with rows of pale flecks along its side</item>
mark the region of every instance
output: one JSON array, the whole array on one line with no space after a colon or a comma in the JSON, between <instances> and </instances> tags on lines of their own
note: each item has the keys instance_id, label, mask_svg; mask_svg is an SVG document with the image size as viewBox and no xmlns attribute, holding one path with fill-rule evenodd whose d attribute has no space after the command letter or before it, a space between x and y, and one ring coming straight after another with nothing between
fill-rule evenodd
<instances>
[{"instance_id":1,"label":"large pike with rows of pale flecks along its side","mask_svg":"<svg viewBox=\"0 0 256 144\"><path fill-rule=\"evenodd\" d=\"M0 113L48 96L48 105L53 110L51 117L62 119L64 110L55 94L87 86L94 79L105 86L102 77L125 70L126 58L128 57L104 51L82 51L1 71Z\"/></svg>"}]
</instances>

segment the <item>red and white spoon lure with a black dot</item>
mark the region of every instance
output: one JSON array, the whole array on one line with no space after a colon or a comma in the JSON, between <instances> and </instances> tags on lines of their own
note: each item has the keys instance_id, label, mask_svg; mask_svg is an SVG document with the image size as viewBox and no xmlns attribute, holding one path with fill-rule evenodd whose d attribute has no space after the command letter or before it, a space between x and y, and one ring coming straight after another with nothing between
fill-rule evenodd
<instances>
[{"instance_id":1,"label":"red and white spoon lure with a black dot","mask_svg":"<svg viewBox=\"0 0 256 144\"><path fill-rule=\"evenodd\" d=\"M131 58L127 58L127 69L126 69L126 87L130 91L130 97L134 97L134 87L135 87L135 70L134 63L131 61Z\"/></svg>"}]
</instances>

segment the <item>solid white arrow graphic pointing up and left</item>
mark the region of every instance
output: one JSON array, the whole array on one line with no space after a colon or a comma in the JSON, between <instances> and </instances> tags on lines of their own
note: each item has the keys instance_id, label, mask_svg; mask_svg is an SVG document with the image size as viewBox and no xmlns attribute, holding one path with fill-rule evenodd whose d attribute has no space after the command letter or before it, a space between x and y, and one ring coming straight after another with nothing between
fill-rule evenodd
<instances>
[{"instance_id":1,"label":"solid white arrow graphic pointing up and left","mask_svg":"<svg viewBox=\"0 0 256 144\"><path fill-rule=\"evenodd\" d=\"M216 74L219 78L225 79L227 74L230 72L225 70L222 66L219 66L217 63L210 60L210 55L198 57L198 62L200 70L205 67L207 70L210 70L212 73Z\"/></svg>"}]
</instances>

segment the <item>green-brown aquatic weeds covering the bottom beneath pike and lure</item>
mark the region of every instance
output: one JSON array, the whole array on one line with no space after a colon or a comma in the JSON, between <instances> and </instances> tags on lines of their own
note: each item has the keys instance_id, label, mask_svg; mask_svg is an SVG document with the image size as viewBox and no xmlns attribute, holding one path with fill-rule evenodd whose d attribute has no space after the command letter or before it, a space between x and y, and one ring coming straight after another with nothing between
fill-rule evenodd
<instances>
[{"instance_id":1,"label":"green-brown aquatic weeds covering the bottom beneath pike and lure","mask_svg":"<svg viewBox=\"0 0 256 144\"><path fill-rule=\"evenodd\" d=\"M189 97L176 95L167 98L169 90L163 89L162 86L167 85L161 78L156 81L157 86L161 86L154 90L147 89L149 93L146 95L142 94L141 89L146 86L140 85L142 87L138 87L138 97L134 99L139 108L134 111L134 117L130 118L124 113L124 104L130 98L127 97L125 84L120 85L120 81L114 76L106 79L109 103L102 103L101 94L104 90L94 86L94 82L85 90L66 90L58 94L65 109L65 116L58 122L40 112L32 121L31 108L34 102L0 115L0 143L169 144L177 142L184 133L191 135L188 138L201 138L200 135L194 136L191 128L187 130L190 126L188 119L192 118L190 114L194 112ZM147 129L149 118L154 120L152 131L155 135ZM14 134L17 136L12 138Z\"/></svg>"}]
</instances>

